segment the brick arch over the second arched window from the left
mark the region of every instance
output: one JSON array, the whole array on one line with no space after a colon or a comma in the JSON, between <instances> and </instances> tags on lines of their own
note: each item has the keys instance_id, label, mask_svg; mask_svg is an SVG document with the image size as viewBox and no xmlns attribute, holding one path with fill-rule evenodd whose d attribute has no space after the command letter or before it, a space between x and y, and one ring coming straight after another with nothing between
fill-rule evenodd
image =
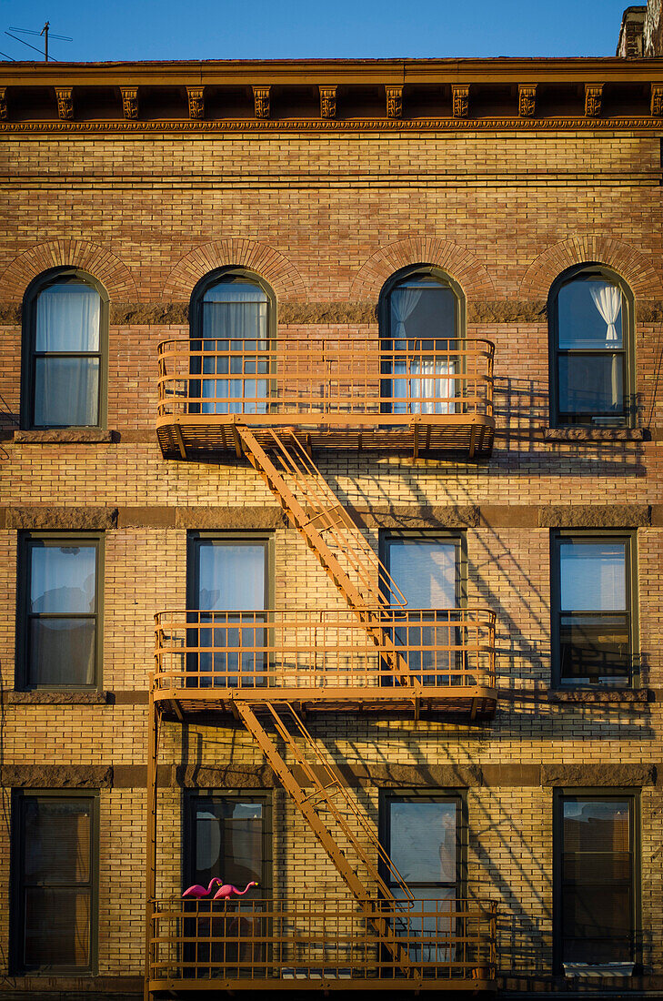
<instances>
[{"instance_id":1,"label":"brick arch over the second arched window from the left","mask_svg":"<svg viewBox=\"0 0 663 1001\"><path fill-rule=\"evenodd\" d=\"M194 247L172 269L163 286L164 299L188 301L197 282L218 267L247 267L269 282L277 299L304 299L305 287L297 268L267 243L254 240L215 240Z\"/></svg>"}]
</instances>

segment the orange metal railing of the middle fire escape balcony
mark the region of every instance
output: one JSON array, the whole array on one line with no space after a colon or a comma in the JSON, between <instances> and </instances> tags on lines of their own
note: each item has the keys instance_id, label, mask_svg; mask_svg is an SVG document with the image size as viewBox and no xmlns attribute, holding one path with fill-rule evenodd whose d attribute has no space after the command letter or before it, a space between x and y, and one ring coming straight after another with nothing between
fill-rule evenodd
<instances>
[{"instance_id":1,"label":"orange metal railing of the middle fire escape balcony","mask_svg":"<svg viewBox=\"0 0 663 1001\"><path fill-rule=\"evenodd\" d=\"M474 609L168 611L155 616L155 692L492 686L495 613ZM398 670L394 670L394 648Z\"/></svg>"}]
</instances>

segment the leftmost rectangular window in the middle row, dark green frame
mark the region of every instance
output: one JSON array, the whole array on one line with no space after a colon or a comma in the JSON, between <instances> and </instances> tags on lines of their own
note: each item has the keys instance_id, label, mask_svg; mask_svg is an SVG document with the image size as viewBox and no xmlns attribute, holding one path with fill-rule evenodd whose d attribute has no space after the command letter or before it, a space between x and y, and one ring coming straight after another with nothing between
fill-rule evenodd
<instances>
[{"instance_id":1,"label":"leftmost rectangular window in the middle row, dark green frame","mask_svg":"<svg viewBox=\"0 0 663 1001\"><path fill-rule=\"evenodd\" d=\"M27 688L92 688L101 665L101 537L26 536L19 641Z\"/></svg>"}]
</instances>

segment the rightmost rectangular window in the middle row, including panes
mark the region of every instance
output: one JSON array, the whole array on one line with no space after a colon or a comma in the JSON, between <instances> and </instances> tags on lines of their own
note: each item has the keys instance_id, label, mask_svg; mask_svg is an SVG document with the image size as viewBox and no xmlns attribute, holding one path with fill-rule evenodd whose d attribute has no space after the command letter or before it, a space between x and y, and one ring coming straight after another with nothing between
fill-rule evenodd
<instances>
[{"instance_id":1,"label":"rightmost rectangular window in the middle row, including panes","mask_svg":"<svg viewBox=\"0 0 663 1001\"><path fill-rule=\"evenodd\" d=\"M562 685L631 683L632 564L628 536L554 538L553 639Z\"/></svg>"}]
</instances>

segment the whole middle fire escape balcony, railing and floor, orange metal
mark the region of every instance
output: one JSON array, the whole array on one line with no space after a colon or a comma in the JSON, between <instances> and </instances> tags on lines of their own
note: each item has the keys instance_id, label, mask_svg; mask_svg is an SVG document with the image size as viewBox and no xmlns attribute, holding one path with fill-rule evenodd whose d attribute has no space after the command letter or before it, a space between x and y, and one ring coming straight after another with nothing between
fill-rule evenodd
<instances>
[{"instance_id":1,"label":"whole middle fire escape balcony, railing and floor, orange metal","mask_svg":"<svg viewBox=\"0 0 663 1001\"><path fill-rule=\"evenodd\" d=\"M155 616L162 712L495 713L495 614L485 610L173 611Z\"/></svg>"}]
</instances>

